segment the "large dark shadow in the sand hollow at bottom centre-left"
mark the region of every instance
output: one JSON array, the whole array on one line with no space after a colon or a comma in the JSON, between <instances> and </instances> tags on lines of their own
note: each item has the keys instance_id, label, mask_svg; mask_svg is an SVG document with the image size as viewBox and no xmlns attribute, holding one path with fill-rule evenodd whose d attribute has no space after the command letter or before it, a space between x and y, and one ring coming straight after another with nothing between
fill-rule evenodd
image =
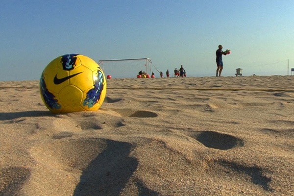
<instances>
[{"instance_id":1,"label":"large dark shadow in the sand hollow at bottom centre-left","mask_svg":"<svg viewBox=\"0 0 294 196\"><path fill-rule=\"evenodd\" d=\"M73 196L118 196L138 167L132 145L106 140L106 149L83 171Z\"/></svg>"}]
</instances>

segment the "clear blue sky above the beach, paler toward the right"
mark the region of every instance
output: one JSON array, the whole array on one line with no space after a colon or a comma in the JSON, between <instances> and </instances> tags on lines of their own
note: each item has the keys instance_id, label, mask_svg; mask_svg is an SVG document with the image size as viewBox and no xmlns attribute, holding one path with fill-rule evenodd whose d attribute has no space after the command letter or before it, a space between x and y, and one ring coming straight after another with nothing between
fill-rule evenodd
<instances>
[{"instance_id":1,"label":"clear blue sky above the beach, paler toward the right","mask_svg":"<svg viewBox=\"0 0 294 196\"><path fill-rule=\"evenodd\" d=\"M214 76L289 74L294 68L293 0L3 0L0 81L35 80L54 58L151 58L160 70L183 65ZM137 70L135 71L138 72Z\"/></svg>"}]
</instances>

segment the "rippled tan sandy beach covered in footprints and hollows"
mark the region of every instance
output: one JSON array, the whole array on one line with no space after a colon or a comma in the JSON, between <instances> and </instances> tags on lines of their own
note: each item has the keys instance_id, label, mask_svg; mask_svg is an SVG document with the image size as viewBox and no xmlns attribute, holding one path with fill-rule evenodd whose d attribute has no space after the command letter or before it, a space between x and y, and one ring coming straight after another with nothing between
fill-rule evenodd
<instances>
[{"instance_id":1,"label":"rippled tan sandy beach covered in footprints and hollows","mask_svg":"<svg viewBox=\"0 0 294 196\"><path fill-rule=\"evenodd\" d=\"M109 79L68 114L2 81L0 196L294 196L294 76Z\"/></svg>"}]
</instances>

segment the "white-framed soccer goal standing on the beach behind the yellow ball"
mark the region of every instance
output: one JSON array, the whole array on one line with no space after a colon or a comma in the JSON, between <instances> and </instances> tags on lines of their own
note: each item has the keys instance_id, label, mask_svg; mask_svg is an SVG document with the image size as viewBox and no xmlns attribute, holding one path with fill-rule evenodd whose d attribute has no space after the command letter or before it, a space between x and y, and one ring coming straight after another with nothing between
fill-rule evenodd
<instances>
[{"instance_id":1,"label":"white-framed soccer goal standing on the beach behind the yellow ball","mask_svg":"<svg viewBox=\"0 0 294 196\"><path fill-rule=\"evenodd\" d=\"M98 64L104 74L112 78L134 78L140 70L150 75L152 73L150 58L99 60Z\"/></svg>"}]
</instances>

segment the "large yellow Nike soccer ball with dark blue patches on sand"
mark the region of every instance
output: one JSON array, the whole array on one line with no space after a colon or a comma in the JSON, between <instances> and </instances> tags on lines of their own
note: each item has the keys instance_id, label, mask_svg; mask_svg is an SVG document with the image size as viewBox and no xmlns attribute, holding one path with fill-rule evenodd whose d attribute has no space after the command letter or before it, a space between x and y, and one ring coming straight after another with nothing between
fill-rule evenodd
<instances>
[{"instance_id":1,"label":"large yellow Nike soccer ball with dark blue patches on sand","mask_svg":"<svg viewBox=\"0 0 294 196\"><path fill-rule=\"evenodd\" d=\"M80 54L52 60L40 79L40 94L52 113L98 110L106 95L106 78L99 65Z\"/></svg>"}]
</instances>

